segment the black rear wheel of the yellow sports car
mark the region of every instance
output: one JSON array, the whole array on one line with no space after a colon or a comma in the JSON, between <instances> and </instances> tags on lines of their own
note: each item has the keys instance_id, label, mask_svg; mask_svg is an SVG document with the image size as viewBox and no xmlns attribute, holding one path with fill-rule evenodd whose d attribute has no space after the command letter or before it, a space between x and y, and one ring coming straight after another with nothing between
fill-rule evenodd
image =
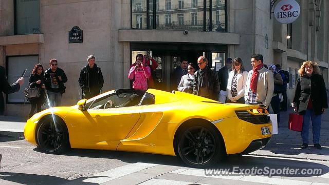
<instances>
[{"instance_id":1,"label":"black rear wheel of the yellow sports car","mask_svg":"<svg viewBox=\"0 0 329 185\"><path fill-rule=\"evenodd\" d=\"M181 160L193 168L214 165L224 154L221 137L206 124L193 124L182 128L176 147Z\"/></svg>"}]
</instances>

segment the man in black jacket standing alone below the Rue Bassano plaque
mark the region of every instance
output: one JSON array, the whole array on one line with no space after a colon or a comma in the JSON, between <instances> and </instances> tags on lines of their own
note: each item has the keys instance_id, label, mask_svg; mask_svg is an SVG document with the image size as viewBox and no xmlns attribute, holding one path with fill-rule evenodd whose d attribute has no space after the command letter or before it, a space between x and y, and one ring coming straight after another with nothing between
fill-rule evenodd
<instances>
[{"instance_id":1,"label":"man in black jacket standing alone below the Rue Bassano plaque","mask_svg":"<svg viewBox=\"0 0 329 185\"><path fill-rule=\"evenodd\" d=\"M79 86L82 89L82 98L89 99L101 93L104 84L101 68L95 64L95 56L89 55L87 66L80 72Z\"/></svg>"}]
</instances>

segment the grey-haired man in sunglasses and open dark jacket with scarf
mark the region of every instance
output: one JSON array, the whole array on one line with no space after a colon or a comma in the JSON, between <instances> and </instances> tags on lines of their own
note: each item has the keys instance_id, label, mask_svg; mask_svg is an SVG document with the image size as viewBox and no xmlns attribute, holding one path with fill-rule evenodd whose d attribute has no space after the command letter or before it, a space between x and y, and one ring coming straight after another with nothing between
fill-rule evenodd
<instances>
[{"instance_id":1,"label":"grey-haired man in sunglasses and open dark jacket with scarf","mask_svg":"<svg viewBox=\"0 0 329 185\"><path fill-rule=\"evenodd\" d=\"M197 65L200 69L194 73L193 94L217 100L220 89L218 75L207 64L208 60L206 57L200 56L197 59Z\"/></svg>"}]
</instances>

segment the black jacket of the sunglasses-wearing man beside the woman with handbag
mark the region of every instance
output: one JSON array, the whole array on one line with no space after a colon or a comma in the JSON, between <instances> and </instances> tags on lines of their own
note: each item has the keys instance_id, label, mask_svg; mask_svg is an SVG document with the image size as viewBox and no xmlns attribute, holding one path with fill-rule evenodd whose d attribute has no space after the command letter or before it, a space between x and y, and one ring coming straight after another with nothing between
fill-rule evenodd
<instances>
[{"instance_id":1,"label":"black jacket of the sunglasses-wearing man beside the woman with handbag","mask_svg":"<svg viewBox=\"0 0 329 185\"><path fill-rule=\"evenodd\" d=\"M51 88L51 77L50 77L50 73L55 73L55 76L56 76L56 80L57 80L57 83L59 85L59 89L53 89ZM58 79L58 76L61 76L62 77L62 81L60 81ZM61 68L57 68L55 72L52 72L51 71L51 68L47 69L46 72L45 72L45 85L46 85L46 89L47 91L50 91L50 92L60 92L61 94L63 94L65 92L65 89L66 87L64 86L64 83L66 83L67 81L67 77L66 77L66 74L65 72L61 69Z\"/></svg>"}]
</instances>

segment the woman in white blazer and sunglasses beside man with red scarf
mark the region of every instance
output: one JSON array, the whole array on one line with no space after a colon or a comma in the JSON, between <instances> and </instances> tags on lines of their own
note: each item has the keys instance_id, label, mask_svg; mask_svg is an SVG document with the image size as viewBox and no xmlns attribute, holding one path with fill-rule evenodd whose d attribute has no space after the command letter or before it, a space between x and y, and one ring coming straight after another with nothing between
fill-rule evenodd
<instances>
[{"instance_id":1,"label":"woman in white blazer and sunglasses beside man with red scarf","mask_svg":"<svg viewBox=\"0 0 329 185\"><path fill-rule=\"evenodd\" d=\"M248 72L244 70L242 59L233 59L232 71L228 75L227 81L227 102L244 104L245 86Z\"/></svg>"}]
</instances>

